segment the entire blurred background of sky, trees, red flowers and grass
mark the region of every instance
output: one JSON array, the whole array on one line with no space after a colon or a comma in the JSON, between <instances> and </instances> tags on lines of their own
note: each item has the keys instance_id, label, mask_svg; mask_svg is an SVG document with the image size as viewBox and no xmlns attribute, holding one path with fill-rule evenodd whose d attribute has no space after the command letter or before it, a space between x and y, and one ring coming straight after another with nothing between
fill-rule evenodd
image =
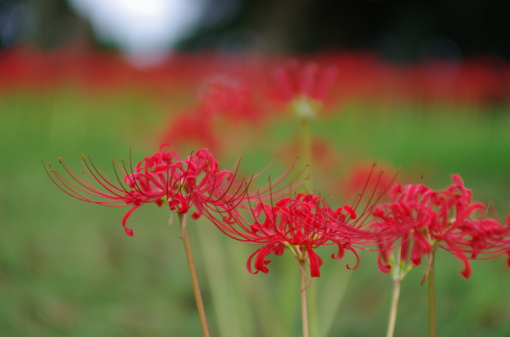
<instances>
[{"instance_id":1,"label":"entire blurred background of sky, trees, red flowers and grass","mask_svg":"<svg viewBox=\"0 0 510 337\"><path fill-rule=\"evenodd\" d=\"M180 230L169 213L74 200L44 162L104 170L168 142L210 147L230 169L258 172L297 153L298 121L278 66L334 66L312 122L313 182L351 202L373 161L388 181L443 188L453 173L504 219L510 195L510 21L503 0L0 1L0 335L198 336ZM73 159L76 158L76 159ZM110 174L112 171L110 171ZM268 172L269 173L269 172ZM265 177L260 184L264 184ZM385 178L386 179L386 178ZM259 183L259 182L258 182ZM191 222L191 221L190 221ZM298 268L286 253L251 275L254 246L205 220L191 241L215 336L295 336ZM310 297L315 336L382 336L392 281L363 252L358 270L328 259ZM510 269L473 262L469 280L437 260L441 336L508 336ZM396 336L427 335L424 267L402 284Z\"/></svg>"}]
</instances>

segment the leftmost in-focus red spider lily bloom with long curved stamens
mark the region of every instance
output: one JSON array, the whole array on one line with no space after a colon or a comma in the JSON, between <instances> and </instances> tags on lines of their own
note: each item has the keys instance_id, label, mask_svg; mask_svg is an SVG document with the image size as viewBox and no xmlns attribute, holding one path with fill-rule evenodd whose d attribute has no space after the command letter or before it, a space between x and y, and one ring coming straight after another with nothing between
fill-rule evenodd
<instances>
[{"instance_id":1,"label":"leftmost in-focus red spider lily bloom with long curved stamens","mask_svg":"<svg viewBox=\"0 0 510 337\"><path fill-rule=\"evenodd\" d=\"M166 144L135 167L122 159L118 165L122 179L113 161L116 182L101 173L90 157L87 161L84 155L80 157L82 176L71 171L63 159L59 161L70 179L51 168L47 173L60 189L76 199L111 207L132 206L122 218L122 226L130 236L133 236L133 230L125 227L126 220L145 203L158 206L167 203L170 210L181 213L187 213L194 205L197 212L192 216L198 217L206 204L221 209L230 207L225 206L225 200L232 203L237 198L242 199L242 193L228 193L235 174L220 171L208 149L196 151L187 160L181 160L174 151L163 152L164 146Z\"/></svg>"}]
</instances>

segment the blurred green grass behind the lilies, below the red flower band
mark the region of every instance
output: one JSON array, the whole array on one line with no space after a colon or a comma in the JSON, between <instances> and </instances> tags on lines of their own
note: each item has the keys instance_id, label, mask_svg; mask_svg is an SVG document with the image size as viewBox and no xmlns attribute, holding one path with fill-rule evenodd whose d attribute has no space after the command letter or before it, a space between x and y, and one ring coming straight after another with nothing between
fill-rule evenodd
<instances>
[{"instance_id":1,"label":"blurred green grass behind the lilies, below the red flower band","mask_svg":"<svg viewBox=\"0 0 510 337\"><path fill-rule=\"evenodd\" d=\"M120 223L127 209L70 198L41 162L55 166L62 156L78 170L77 157L89 153L108 171L112 157L129 156L130 146L138 161L157 150L155 130L164 127L168 105L133 93L94 98L72 89L0 94L0 335L200 335L180 229L168 229L168 210L141 207L129 220L135 236L128 237ZM423 183L432 188L446 187L458 173L475 200L493 201L503 219L510 203L509 126L506 107L350 101L317 120L313 131L341 155L339 176L361 159L402 166L408 182L425 173ZM279 118L257 142L250 139L262 131L248 128L239 141L245 170L264 167L293 127ZM226 168L239 154L224 155ZM317 184L324 194L336 193L326 178ZM250 275L245 263L254 247L227 240L204 220L190 231L213 335L299 334L298 268L288 253L272 259L269 274ZM384 336L392 282L377 269L376 252L363 252L360 268L348 271L352 256L333 261L327 256L334 247L321 249L323 275L311 290L318 337ZM469 280L462 267L438 253L438 334L510 335L504 257L474 261ZM428 335L423 273L417 267L402 284L396 336Z\"/></svg>"}]
</instances>

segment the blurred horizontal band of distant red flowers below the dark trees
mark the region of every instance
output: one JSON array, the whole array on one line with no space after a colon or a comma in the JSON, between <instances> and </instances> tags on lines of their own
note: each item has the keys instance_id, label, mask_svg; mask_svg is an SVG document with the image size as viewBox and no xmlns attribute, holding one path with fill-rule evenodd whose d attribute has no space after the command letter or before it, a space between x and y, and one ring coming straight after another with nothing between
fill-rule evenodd
<instances>
[{"instance_id":1,"label":"blurred horizontal band of distant red flowers below the dark trees","mask_svg":"<svg viewBox=\"0 0 510 337\"><path fill-rule=\"evenodd\" d=\"M338 68L342 76L333 84L331 96L340 101L358 98L375 102L447 101L478 105L508 102L510 64L494 57L468 57L461 63L429 59L422 64L395 66L362 51L317 53L300 62L311 59ZM0 53L0 88L55 90L73 83L93 93L136 88L151 98L167 101L169 94L181 95L183 90L197 88L205 76L217 73L218 69L240 74L259 85L253 77L258 79L263 74L270 78L278 64L282 64L280 57L260 54L239 57L216 52L174 52L166 62L141 70L127 63L118 52L76 49L72 45L51 50L19 46ZM287 73L291 72L288 68L292 67L284 67Z\"/></svg>"}]
</instances>

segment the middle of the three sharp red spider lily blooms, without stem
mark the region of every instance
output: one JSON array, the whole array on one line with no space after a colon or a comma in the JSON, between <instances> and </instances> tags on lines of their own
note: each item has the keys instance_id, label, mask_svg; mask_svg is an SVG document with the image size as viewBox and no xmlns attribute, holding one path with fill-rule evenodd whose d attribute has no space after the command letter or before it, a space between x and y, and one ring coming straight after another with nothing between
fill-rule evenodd
<instances>
[{"instance_id":1,"label":"middle of the three sharp red spider lily blooms, without stem","mask_svg":"<svg viewBox=\"0 0 510 337\"><path fill-rule=\"evenodd\" d=\"M255 199L255 198L253 198ZM336 210L319 196L297 193L295 198L279 198L273 205L259 201L254 207L240 205L236 209L217 214L206 213L216 226L227 236L250 244L264 245L251 254L246 263L250 273L269 272L266 260L270 254L281 256L286 248L291 249L298 259L307 259L312 277L320 276L322 259L315 252L321 245L338 245L334 259L341 259L345 250L351 250L359 265L359 256L353 243L366 240L366 233L347 225L349 220L356 221L356 212L350 205ZM247 216L241 215L243 210ZM222 214L222 217L218 217ZM254 261L254 269L251 263Z\"/></svg>"}]
</instances>

